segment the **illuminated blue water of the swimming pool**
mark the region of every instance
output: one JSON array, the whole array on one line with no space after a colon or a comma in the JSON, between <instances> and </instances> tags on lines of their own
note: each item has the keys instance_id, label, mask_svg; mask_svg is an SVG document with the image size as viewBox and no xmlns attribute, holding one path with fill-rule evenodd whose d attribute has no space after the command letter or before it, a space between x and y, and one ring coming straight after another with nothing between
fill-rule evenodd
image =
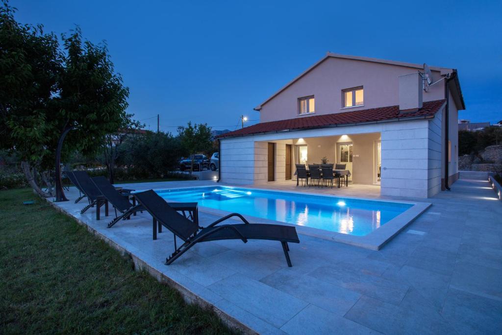
<instances>
[{"instance_id":1,"label":"illuminated blue water of the swimming pool","mask_svg":"<svg viewBox=\"0 0 502 335\"><path fill-rule=\"evenodd\" d=\"M174 201L196 201L199 206L356 236L371 233L412 206L228 186L171 189L157 193Z\"/></svg>"}]
</instances>

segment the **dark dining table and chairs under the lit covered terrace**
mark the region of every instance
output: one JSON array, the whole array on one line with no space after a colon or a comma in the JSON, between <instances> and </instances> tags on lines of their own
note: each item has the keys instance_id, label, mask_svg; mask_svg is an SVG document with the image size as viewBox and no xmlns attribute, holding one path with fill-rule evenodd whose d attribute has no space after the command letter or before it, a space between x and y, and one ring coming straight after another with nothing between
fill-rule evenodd
<instances>
[{"instance_id":1,"label":"dark dining table and chairs under the lit covered terrace","mask_svg":"<svg viewBox=\"0 0 502 335\"><path fill-rule=\"evenodd\" d=\"M303 187L309 186L328 186L333 188L333 181L336 181L338 188L345 184L348 186L348 177L350 171L345 169L346 164L309 164L308 169L303 164L296 164L296 186L302 181Z\"/></svg>"}]
</instances>

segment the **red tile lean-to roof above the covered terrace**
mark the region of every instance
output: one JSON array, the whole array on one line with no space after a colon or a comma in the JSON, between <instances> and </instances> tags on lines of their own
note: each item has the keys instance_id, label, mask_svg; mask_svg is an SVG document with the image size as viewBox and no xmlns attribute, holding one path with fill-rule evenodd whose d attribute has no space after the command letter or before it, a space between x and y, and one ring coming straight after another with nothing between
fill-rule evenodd
<instances>
[{"instance_id":1,"label":"red tile lean-to roof above the covered terrace","mask_svg":"<svg viewBox=\"0 0 502 335\"><path fill-rule=\"evenodd\" d=\"M414 117L432 117L445 103L445 99L426 101L422 108L408 113L399 113L399 105L370 108L344 113L297 117L295 119L263 122L234 132L217 136L217 138L246 136L253 134L278 132L284 130L304 130L330 126L343 126L357 123L377 122L385 120L404 121Z\"/></svg>"}]
</instances>

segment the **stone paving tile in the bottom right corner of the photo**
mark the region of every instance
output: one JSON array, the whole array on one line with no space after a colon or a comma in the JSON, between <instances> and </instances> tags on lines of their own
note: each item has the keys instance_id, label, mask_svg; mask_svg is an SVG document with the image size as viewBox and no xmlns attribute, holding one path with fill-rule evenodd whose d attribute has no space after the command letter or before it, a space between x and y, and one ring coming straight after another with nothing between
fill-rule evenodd
<instances>
[{"instance_id":1,"label":"stone paving tile in the bottom right corner of the photo","mask_svg":"<svg viewBox=\"0 0 502 335\"><path fill-rule=\"evenodd\" d=\"M502 302L450 289L443 318L461 334L496 334L502 329Z\"/></svg>"}]
</instances>

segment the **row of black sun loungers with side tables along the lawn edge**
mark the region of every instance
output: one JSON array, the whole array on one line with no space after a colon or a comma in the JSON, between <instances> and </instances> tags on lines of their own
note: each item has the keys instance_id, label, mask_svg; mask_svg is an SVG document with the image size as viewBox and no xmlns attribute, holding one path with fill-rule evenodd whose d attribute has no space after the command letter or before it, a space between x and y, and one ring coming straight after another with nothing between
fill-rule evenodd
<instances>
[{"instance_id":1,"label":"row of black sun loungers with side tables along the lawn edge","mask_svg":"<svg viewBox=\"0 0 502 335\"><path fill-rule=\"evenodd\" d=\"M162 227L167 228L174 235L174 253L166 258L166 265L170 265L183 253L197 243L219 240L271 240L279 241L283 247L288 266L292 266L289 257L288 243L300 243L295 227L271 224L250 224L241 214L231 213L212 224L199 226L197 202L167 202L154 190L135 193L132 189L116 188L105 177L90 177L85 171L65 171L66 176L76 186L80 196L79 202L87 197L88 204L82 208L84 213L89 208L96 208L96 220L100 219L100 209L104 206L105 216L108 216L108 203L115 210L113 218L107 228L111 228L121 219L130 219L138 212L147 211L153 218L153 239L162 233ZM224 224L221 222L238 217L242 224ZM183 244L177 247L177 238Z\"/></svg>"}]
</instances>

